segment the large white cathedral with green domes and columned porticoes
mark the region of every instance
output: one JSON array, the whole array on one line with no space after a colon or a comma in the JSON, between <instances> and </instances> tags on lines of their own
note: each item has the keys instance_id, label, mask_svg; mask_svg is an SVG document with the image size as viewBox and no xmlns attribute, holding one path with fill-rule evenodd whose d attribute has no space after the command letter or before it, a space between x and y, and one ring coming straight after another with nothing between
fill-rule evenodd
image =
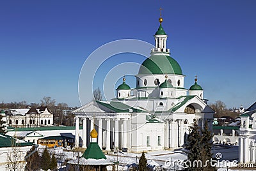
<instances>
[{"instance_id":1,"label":"large white cathedral with green domes and columned porticoes","mask_svg":"<svg viewBox=\"0 0 256 171\"><path fill-rule=\"evenodd\" d=\"M189 89L184 87L185 75L166 48L168 35L161 17L159 22L154 34L155 47L135 75L136 87L131 89L124 78L116 89L116 98L91 101L73 111L76 147L86 148L90 143L93 125L99 133L100 148L128 152L182 147L194 119L199 126L204 126L207 120L212 130L214 111L204 99L204 90L197 79ZM79 135L79 123L83 123L82 135ZM82 144L79 144L79 137Z\"/></svg>"}]
</instances>

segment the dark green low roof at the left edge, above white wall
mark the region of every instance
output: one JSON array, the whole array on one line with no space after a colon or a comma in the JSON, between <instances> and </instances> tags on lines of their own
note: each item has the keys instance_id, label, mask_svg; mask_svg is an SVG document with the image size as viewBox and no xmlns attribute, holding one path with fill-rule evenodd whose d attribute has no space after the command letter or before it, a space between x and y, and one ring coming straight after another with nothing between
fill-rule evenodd
<instances>
[{"instance_id":1,"label":"dark green low roof at the left edge, above white wall","mask_svg":"<svg viewBox=\"0 0 256 171\"><path fill-rule=\"evenodd\" d=\"M0 147L13 147L13 146L30 146L33 145L32 142L17 142L16 139L0 133Z\"/></svg>"}]
</instances>

